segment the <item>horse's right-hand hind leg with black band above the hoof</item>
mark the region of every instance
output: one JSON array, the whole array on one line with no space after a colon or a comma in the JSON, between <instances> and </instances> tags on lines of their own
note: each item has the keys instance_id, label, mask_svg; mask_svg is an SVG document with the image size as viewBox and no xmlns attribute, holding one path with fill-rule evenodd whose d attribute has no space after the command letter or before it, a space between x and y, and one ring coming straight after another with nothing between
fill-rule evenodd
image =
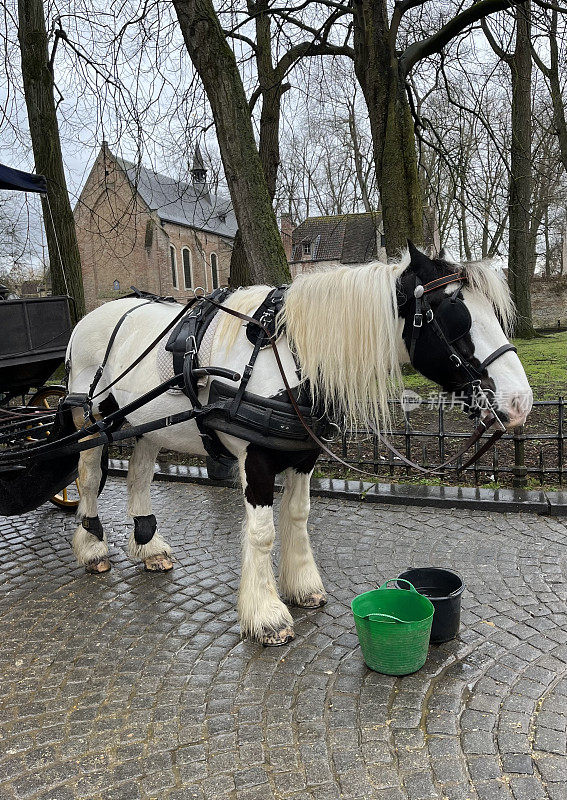
<instances>
[{"instance_id":1,"label":"horse's right-hand hind leg with black band above the hoof","mask_svg":"<svg viewBox=\"0 0 567 800\"><path fill-rule=\"evenodd\" d=\"M159 445L142 436L130 457L126 483L128 514L134 518L134 530L128 541L128 554L143 561L150 572L167 572L173 568L171 548L157 533L150 500L150 484L158 453Z\"/></svg>"}]
</instances>

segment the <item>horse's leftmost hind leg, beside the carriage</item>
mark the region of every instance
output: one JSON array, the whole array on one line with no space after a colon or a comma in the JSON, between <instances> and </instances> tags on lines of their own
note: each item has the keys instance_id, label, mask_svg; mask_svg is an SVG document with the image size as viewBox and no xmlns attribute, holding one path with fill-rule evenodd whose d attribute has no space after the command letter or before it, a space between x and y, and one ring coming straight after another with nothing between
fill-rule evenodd
<instances>
[{"instance_id":1,"label":"horse's leftmost hind leg, beside the carriage","mask_svg":"<svg viewBox=\"0 0 567 800\"><path fill-rule=\"evenodd\" d=\"M81 499L77 517L81 520L73 536L73 552L87 572L108 572L108 544L98 518L97 497L100 480L102 447L83 450L79 458Z\"/></svg>"}]
</instances>

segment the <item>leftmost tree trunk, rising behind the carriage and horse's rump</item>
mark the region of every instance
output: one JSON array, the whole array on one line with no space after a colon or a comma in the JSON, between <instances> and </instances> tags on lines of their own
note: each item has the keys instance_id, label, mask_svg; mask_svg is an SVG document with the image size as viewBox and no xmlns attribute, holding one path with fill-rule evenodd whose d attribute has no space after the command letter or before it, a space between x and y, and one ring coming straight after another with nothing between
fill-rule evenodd
<instances>
[{"instance_id":1,"label":"leftmost tree trunk, rising behind the carriage and horse's rump","mask_svg":"<svg viewBox=\"0 0 567 800\"><path fill-rule=\"evenodd\" d=\"M49 204L42 198L42 207L52 291L74 299L71 317L77 322L85 313L83 276L63 168L42 0L18 0L18 39L35 169L47 178Z\"/></svg>"}]
</instances>

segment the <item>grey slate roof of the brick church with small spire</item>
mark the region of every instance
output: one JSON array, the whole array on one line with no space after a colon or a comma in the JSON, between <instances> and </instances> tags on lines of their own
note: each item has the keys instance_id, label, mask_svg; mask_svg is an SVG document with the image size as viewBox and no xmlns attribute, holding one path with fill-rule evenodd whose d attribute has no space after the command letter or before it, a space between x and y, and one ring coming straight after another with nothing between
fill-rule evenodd
<instances>
[{"instance_id":1,"label":"grey slate roof of the brick church with small spire","mask_svg":"<svg viewBox=\"0 0 567 800\"><path fill-rule=\"evenodd\" d=\"M162 222L173 222L234 239L238 225L230 200L212 195L206 183L186 183L116 158L133 188Z\"/></svg>"}]
</instances>

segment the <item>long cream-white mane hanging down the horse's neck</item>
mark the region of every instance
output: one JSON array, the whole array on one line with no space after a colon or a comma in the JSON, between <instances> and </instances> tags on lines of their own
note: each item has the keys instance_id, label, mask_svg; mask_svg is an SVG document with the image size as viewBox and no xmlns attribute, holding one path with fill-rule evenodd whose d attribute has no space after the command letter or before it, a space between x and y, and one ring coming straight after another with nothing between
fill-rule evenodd
<instances>
[{"instance_id":1,"label":"long cream-white mane hanging down the horse's neck","mask_svg":"<svg viewBox=\"0 0 567 800\"><path fill-rule=\"evenodd\" d=\"M314 397L349 428L389 422L401 385L396 280L405 266L372 262L297 277L282 321Z\"/></svg>"}]
</instances>

